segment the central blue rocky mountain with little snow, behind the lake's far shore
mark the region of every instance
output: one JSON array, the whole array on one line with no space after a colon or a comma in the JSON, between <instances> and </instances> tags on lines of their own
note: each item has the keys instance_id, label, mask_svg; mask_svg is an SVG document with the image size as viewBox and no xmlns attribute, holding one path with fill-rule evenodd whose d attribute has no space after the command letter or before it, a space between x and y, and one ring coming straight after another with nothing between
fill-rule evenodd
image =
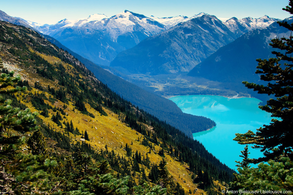
<instances>
[{"instance_id":1,"label":"central blue rocky mountain with little snow, behind the lake's far shore","mask_svg":"<svg viewBox=\"0 0 293 195\"><path fill-rule=\"evenodd\" d=\"M222 21L201 14L122 51L110 66L134 74L188 72L235 39L235 34Z\"/></svg>"}]
</instances>

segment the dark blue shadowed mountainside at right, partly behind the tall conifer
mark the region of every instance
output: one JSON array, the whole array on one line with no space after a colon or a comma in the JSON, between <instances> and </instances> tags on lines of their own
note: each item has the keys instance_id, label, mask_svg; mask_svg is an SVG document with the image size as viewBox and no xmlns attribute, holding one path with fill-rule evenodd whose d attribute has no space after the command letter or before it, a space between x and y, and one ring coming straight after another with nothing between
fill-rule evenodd
<instances>
[{"instance_id":1,"label":"dark blue shadowed mountainside at right, partly behind the tall conifer","mask_svg":"<svg viewBox=\"0 0 293 195\"><path fill-rule=\"evenodd\" d=\"M293 22L292 17L285 20ZM258 65L255 59L275 57L271 52L276 49L269 46L269 43L273 38L289 37L290 34L291 31L277 23L251 30L210 55L192 69L188 76L201 76L222 83L259 83L259 75L255 74Z\"/></svg>"}]
</instances>

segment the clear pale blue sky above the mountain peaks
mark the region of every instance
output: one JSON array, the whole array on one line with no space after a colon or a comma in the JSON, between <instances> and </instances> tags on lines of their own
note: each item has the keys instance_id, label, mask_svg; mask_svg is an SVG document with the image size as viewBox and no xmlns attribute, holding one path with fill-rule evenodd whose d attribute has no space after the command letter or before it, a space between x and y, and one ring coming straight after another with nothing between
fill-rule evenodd
<instances>
[{"instance_id":1,"label":"clear pale blue sky above the mountain peaks","mask_svg":"<svg viewBox=\"0 0 293 195\"><path fill-rule=\"evenodd\" d=\"M221 18L259 18L267 15L284 19L291 16L282 10L287 5L288 0L6 0L1 2L0 10L9 16L54 24L64 18L79 19L94 13L110 17L125 9L159 18L178 15L191 17L199 12L205 12Z\"/></svg>"}]
</instances>

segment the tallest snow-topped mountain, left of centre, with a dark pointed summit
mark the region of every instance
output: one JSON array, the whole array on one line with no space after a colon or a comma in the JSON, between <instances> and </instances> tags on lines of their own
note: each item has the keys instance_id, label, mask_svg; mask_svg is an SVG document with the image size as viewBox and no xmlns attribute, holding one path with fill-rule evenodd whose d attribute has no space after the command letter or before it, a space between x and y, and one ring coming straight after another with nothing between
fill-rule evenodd
<instances>
[{"instance_id":1,"label":"tallest snow-topped mountain, left of centre, with a dark pointed summit","mask_svg":"<svg viewBox=\"0 0 293 195\"><path fill-rule=\"evenodd\" d=\"M112 17L93 14L77 20L63 19L36 29L54 37L82 57L102 65L109 65L120 51L167 30L156 20L128 10Z\"/></svg>"}]
</instances>

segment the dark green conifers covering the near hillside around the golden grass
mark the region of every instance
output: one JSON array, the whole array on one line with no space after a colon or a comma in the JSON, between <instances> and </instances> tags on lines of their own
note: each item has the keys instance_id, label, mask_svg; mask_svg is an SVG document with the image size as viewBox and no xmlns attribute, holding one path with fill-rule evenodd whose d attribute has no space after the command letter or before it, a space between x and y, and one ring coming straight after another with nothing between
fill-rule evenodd
<instances>
[{"instance_id":1,"label":"dark green conifers covering the near hillside around the golden grass","mask_svg":"<svg viewBox=\"0 0 293 195\"><path fill-rule=\"evenodd\" d=\"M0 24L1 23L2 22L0 22ZM6 29L9 31L9 29L12 28L7 27ZM29 29L27 29L27 31L31 32ZM0 28L0 33L1 32ZM13 33L17 32L19 31L13 31ZM9 34L9 32L6 32L6 34ZM31 37L28 37L26 40L25 37L23 38L19 35L19 38L19 41L22 42L24 47L27 41L31 41ZM230 180L232 175L231 173L233 171L221 164L219 160L215 159L212 154L208 153L198 141L186 136L180 130L170 126L164 121L160 121L146 111L133 106L131 102L126 101L120 95L111 91L107 85L96 80L93 73L85 69L85 66L83 66L72 56L68 55L67 52L46 45L48 42L40 38L38 35L36 39L36 44L32 48L33 50L43 52L47 55L56 56L62 60L60 64L49 64L45 59L37 54L34 54L30 50L25 49L26 51L24 51L27 52L26 55L28 57L28 64L35 69L39 76L43 76L52 81L58 80L58 84L63 86L55 86L56 88L48 86L48 88L46 88L41 82L35 83L35 87L40 90L46 91L48 89L48 92L51 93L49 97L50 102L55 103L56 99L59 99L63 102L62 104L66 104L67 101L70 100L79 111L82 111L87 115L91 115L91 113L87 112L85 109L86 103L89 103L92 108L98 110L102 115L107 115L107 113L103 110L103 108L107 108L111 112L119 115L119 120L126 122L131 128L142 133L145 137L143 143L149 146L150 149L152 149L154 145L159 145L160 141L163 143L161 146L164 147L165 152L168 153L168 146L172 145L174 147L172 148L172 150L174 149L174 160L176 160L176 158L180 158L180 161L188 163L190 171L197 172L199 169L210 169L209 173L212 177L221 178L222 181ZM42 43L42 45L39 43ZM15 49L16 48L17 47L15 47ZM25 63L24 61L22 62ZM67 69L67 66L64 66L64 62L69 63L72 67ZM26 84L28 85L27 82ZM19 82L18 86L21 87L22 83ZM26 85L24 84L23 86ZM146 157L143 155L142 159L139 152L136 152L133 155L132 161L131 158L125 158L125 156L115 154L114 150L110 151L108 148L105 151L101 149L97 152L88 142L73 143L72 137L67 136L66 131L74 134L80 133L77 128L74 129L73 123L69 122L69 120L68 122L64 120L64 133L54 131L53 129L55 123L62 125L63 115L65 115L65 112L62 108L50 108L47 104L45 104L43 101L45 100L45 96L43 94L43 92L38 94L30 92L25 95L25 98L27 98L27 102L34 102L33 106L42 111L42 114L44 115L46 115L46 111L48 111L48 109L52 109L52 111L55 112L52 116L53 125L50 122L51 126L50 124L46 125L41 119L37 119L37 122L45 137L50 137L50 141L54 140L54 149L48 150L48 153L52 159L55 158L56 161L58 161L58 165L54 168L48 168L46 170L48 174L47 178L49 178L50 181L49 184L52 186L54 185L51 189L52 191L60 189L63 190L64 193L68 194L69 191L80 190L80 192L76 193L92 193L92 191L87 191L85 189L91 189L90 186L93 186L94 183L97 184L96 181L99 181L98 175L102 177L108 173L111 173L112 171L110 170L109 165L118 173L117 176L111 173L114 177L113 181L116 181L115 178L123 179L125 176L132 175L133 170L137 171L135 174L141 178L141 186L143 186L143 180L148 181L146 176L147 171L144 170L144 166L141 166L145 165L146 168L150 169L151 163L148 154ZM66 105L63 106L63 108L65 107ZM202 121L197 120L197 122L201 123ZM145 124L151 125L153 130L150 131ZM198 128L205 129L206 127L200 126ZM33 139L33 142L36 144L32 144L31 148L35 148L37 150L41 149L39 146L42 142L39 142L39 140L42 139L38 139L38 136L36 136ZM53 147L52 145L50 146ZM58 150L55 150L55 147L58 148ZM80 154L78 150L84 152L84 154ZM128 156L132 157L133 153L131 151L131 147L128 146L127 151ZM68 156L69 154L72 154L72 156ZM94 160L89 158L86 154L90 155ZM38 159L37 161L40 163L41 160ZM95 165L93 165L93 161L95 161ZM153 170L156 169L154 168ZM157 172L155 173L156 178L152 181L158 180L158 172L159 170L157 168ZM84 180L86 180L89 185L85 182L84 188L82 188L82 186L78 186L78 184L81 184L81 181ZM115 186L115 184L113 185ZM130 178L126 185L129 188L128 193L133 192L134 185L136 185L135 181ZM178 183L176 184L175 182L172 182L170 185L173 186L173 189L176 189L174 191L177 191L177 194L184 194L184 190ZM78 189L79 187L81 188ZM144 186L143 188L146 193L149 191Z\"/></svg>"}]
</instances>

